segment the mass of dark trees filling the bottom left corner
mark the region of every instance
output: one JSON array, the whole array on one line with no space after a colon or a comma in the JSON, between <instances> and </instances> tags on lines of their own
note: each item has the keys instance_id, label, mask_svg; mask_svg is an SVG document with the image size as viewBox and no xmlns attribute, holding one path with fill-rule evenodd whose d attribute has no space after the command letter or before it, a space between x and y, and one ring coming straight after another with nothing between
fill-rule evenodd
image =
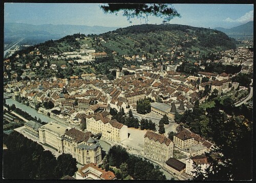
<instances>
[{"instance_id":1,"label":"mass of dark trees filling the bottom left corner","mask_svg":"<svg viewBox=\"0 0 256 183\"><path fill-rule=\"evenodd\" d=\"M60 179L77 171L71 154L53 153L16 131L4 135L3 177L6 179ZM13 171L15 170L15 173Z\"/></svg>"}]
</instances>

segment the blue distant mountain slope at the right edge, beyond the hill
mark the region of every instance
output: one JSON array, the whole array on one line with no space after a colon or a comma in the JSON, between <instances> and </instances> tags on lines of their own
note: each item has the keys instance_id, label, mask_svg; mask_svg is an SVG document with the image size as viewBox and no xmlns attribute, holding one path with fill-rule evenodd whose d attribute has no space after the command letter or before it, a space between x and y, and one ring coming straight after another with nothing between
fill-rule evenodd
<instances>
[{"instance_id":1,"label":"blue distant mountain slope at the right edge, beyond the hill","mask_svg":"<svg viewBox=\"0 0 256 183\"><path fill-rule=\"evenodd\" d=\"M229 37L237 38L241 36L253 36L253 21L239 25L231 29L214 28L215 30L226 33Z\"/></svg>"}]
</instances>

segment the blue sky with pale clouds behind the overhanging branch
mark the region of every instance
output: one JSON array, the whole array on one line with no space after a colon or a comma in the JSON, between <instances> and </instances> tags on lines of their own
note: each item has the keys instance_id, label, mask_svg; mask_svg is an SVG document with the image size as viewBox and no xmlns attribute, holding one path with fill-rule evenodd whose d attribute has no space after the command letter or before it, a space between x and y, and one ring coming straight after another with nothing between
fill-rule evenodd
<instances>
[{"instance_id":1,"label":"blue sky with pale clouds behind the overhanging branch","mask_svg":"<svg viewBox=\"0 0 256 183\"><path fill-rule=\"evenodd\" d=\"M104 27L124 28L143 24L141 19L132 19L132 23L119 12L118 15L104 14L100 4L47 4L47 3L5 3L4 21L29 24L74 24L100 25ZM230 29L253 21L253 5L236 4L173 4L181 14L169 23L191 25L194 27ZM148 17L149 24L160 24L163 19Z\"/></svg>"}]
</instances>

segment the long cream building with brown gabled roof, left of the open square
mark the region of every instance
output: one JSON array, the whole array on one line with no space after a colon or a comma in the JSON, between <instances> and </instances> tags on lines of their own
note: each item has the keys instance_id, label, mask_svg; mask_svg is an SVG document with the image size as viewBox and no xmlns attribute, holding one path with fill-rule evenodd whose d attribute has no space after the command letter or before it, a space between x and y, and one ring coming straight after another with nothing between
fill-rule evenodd
<instances>
[{"instance_id":1,"label":"long cream building with brown gabled roof, left of the open square","mask_svg":"<svg viewBox=\"0 0 256 183\"><path fill-rule=\"evenodd\" d=\"M117 122L115 119L110 120L110 118L102 113L87 116L86 125L88 131L93 134L101 133L101 137L109 141L122 142L128 138L128 128L126 125Z\"/></svg>"}]
</instances>

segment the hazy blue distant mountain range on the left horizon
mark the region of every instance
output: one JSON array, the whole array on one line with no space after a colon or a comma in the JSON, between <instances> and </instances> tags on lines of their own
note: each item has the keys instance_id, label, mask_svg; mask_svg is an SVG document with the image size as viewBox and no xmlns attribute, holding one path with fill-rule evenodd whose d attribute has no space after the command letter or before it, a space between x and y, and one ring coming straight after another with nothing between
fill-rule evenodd
<instances>
[{"instance_id":1,"label":"hazy blue distant mountain range on the left horizon","mask_svg":"<svg viewBox=\"0 0 256 183\"><path fill-rule=\"evenodd\" d=\"M87 26L87 25L54 25L42 24L33 25L27 23L5 23L5 37L26 37L26 36L55 36L55 35L72 35L75 33L81 34L102 34L109 31L114 31L118 27L102 27L102 26Z\"/></svg>"}]
</instances>

